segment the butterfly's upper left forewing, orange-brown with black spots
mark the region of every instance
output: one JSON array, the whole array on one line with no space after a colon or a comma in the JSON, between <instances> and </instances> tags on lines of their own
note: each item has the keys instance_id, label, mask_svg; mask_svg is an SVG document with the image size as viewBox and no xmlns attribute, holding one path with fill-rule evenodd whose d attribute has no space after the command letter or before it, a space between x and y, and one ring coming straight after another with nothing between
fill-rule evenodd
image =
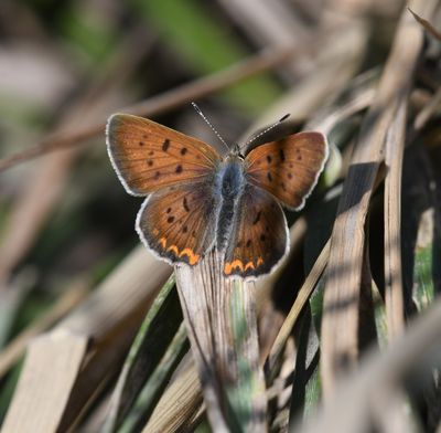
<instances>
[{"instance_id":1,"label":"butterfly's upper left forewing, orange-brown with black spots","mask_svg":"<svg viewBox=\"0 0 441 433\"><path fill-rule=\"evenodd\" d=\"M220 160L212 147L196 138L127 114L109 118L107 149L119 179L133 196L203 181L213 176Z\"/></svg>"}]
</instances>

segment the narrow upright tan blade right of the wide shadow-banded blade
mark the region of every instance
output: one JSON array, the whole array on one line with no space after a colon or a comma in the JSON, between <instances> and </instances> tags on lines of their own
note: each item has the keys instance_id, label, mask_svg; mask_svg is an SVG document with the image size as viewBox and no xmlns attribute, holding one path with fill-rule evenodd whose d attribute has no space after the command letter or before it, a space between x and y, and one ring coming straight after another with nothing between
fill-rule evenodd
<instances>
[{"instance_id":1,"label":"narrow upright tan blade right of the wide shadow-banded blade","mask_svg":"<svg viewBox=\"0 0 441 433\"><path fill-rule=\"evenodd\" d=\"M389 338L405 328L405 300L401 270L401 171L406 141L407 94L386 137L385 162L385 303Z\"/></svg>"}]
</instances>

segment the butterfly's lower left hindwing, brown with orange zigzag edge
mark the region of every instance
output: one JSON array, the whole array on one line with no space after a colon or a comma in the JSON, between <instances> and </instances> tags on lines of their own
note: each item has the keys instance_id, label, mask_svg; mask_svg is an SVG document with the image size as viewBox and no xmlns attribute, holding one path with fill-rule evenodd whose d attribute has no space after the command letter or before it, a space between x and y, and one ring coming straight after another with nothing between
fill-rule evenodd
<instances>
[{"instance_id":1,"label":"butterfly's lower left hindwing, brown with orange zigzag edge","mask_svg":"<svg viewBox=\"0 0 441 433\"><path fill-rule=\"evenodd\" d=\"M162 189L142 204L137 232L163 260L193 266L214 243L216 207L208 182Z\"/></svg>"}]
</instances>

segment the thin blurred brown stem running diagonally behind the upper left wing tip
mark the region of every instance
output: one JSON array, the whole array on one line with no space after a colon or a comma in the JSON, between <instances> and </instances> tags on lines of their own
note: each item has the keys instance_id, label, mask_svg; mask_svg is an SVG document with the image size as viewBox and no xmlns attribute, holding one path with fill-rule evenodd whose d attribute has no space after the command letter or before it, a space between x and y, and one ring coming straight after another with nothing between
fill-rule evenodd
<instances>
[{"instance_id":1,"label":"thin blurred brown stem running diagonally behind the upper left wing tip","mask_svg":"<svg viewBox=\"0 0 441 433\"><path fill-rule=\"evenodd\" d=\"M195 80L175 89L153 96L132 106L121 108L120 110L147 117L159 115L183 104L187 104L191 101L218 92L241 80L269 71L283 64L289 59L292 59L295 52L297 51L291 46L268 49L255 56L250 56L245 61L234 64L224 71ZM1 159L0 172L20 162L40 157L51 151L83 144L85 140L97 135L104 136L105 127L106 120L104 119L103 122L83 128L79 131L47 137L34 147Z\"/></svg>"}]
</instances>

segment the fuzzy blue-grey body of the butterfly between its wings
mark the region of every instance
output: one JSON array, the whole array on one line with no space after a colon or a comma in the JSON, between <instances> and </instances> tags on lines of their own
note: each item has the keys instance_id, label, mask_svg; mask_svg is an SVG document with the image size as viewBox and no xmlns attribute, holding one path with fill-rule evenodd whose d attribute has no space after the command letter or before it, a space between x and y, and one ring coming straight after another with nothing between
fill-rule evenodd
<instances>
[{"instance_id":1,"label":"fuzzy blue-grey body of the butterfly between its wings","mask_svg":"<svg viewBox=\"0 0 441 433\"><path fill-rule=\"evenodd\" d=\"M220 198L216 231L216 246L219 251L224 250L229 237L235 208L243 194L244 186L243 163L236 158L228 158L219 167L214 184L214 193Z\"/></svg>"}]
</instances>

